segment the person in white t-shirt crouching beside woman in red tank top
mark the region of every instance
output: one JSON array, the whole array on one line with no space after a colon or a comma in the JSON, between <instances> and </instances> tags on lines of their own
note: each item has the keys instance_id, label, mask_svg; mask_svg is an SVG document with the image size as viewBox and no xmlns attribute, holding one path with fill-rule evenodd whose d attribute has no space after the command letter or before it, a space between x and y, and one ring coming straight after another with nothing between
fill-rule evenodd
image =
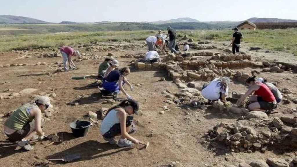
<instances>
[{"instance_id":1,"label":"person in white t-shirt crouching beside woman in red tank top","mask_svg":"<svg viewBox=\"0 0 297 167\"><path fill-rule=\"evenodd\" d=\"M226 100L229 92L230 79L228 77L215 78L210 83L205 83L201 94L204 98L215 101L221 100L225 105L229 105Z\"/></svg>"}]
</instances>

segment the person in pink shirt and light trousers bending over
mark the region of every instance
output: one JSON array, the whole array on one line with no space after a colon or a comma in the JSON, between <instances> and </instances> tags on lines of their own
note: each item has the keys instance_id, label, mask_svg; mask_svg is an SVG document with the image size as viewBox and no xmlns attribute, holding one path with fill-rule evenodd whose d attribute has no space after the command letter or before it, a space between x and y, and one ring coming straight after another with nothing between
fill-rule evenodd
<instances>
[{"instance_id":1,"label":"person in pink shirt and light trousers bending over","mask_svg":"<svg viewBox=\"0 0 297 167\"><path fill-rule=\"evenodd\" d=\"M67 60L69 63L69 69L70 70L75 70L75 64L72 61L72 56L80 56L79 51L75 51L73 48L69 46L62 46L60 47L60 53L63 56L63 65L64 65L64 71L68 71L67 69Z\"/></svg>"}]
</instances>

